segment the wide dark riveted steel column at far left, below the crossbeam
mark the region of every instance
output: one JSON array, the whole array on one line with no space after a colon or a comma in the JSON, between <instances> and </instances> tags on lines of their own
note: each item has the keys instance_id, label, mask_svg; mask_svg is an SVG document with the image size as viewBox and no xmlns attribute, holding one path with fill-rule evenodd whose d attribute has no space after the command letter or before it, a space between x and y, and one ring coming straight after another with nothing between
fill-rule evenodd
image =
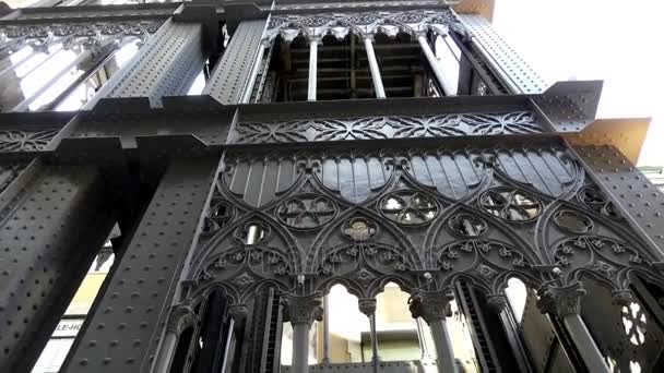
<instances>
[{"instance_id":1,"label":"wide dark riveted steel column at far left, below the crossbeam","mask_svg":"<svg viewBox=\"0 0 664 373\"><path fill-rule=\"evenodd\" d=\"M0 194L0 372L28 372L115 224L102 173L28 166Z\"/></svg>"}]
</instances>

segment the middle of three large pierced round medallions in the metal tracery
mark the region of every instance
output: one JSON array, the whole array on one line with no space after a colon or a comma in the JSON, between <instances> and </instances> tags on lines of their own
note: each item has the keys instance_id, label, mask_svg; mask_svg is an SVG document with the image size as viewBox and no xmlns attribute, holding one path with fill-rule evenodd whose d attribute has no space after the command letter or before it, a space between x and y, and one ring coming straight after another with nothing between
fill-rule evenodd
<instances>
[{"instance_id":1,"label":"middle of three large pierced round medallions in the metal tracery","mask_svg":"<svg viewBox=\"0 0 664 373\"><path fill-rule=\"evenodd\" d=\"M405 226L417 226L438 216L436 201L420 192L396 191L380 200L380 213L388 219Z\"/></svg>"}]
</instances>

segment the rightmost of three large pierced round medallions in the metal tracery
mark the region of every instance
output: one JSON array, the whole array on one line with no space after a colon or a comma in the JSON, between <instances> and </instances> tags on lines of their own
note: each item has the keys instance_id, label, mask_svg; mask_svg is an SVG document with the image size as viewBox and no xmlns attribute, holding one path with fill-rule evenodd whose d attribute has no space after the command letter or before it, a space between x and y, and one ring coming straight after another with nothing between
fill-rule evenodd
<instances>
[{"instance_id":1,"label":"rightmost of three large pierced round medallions in the metal tracery","mask_svg":"<svg viewBox=\"0 0 664 373\"><path fill-rule=\"evenodd\" d=\"M531 194L510 188L494 188L479 196L487 213L509 221L532 221L542 213L542 203Z\"/></svg>"}]
</instances>

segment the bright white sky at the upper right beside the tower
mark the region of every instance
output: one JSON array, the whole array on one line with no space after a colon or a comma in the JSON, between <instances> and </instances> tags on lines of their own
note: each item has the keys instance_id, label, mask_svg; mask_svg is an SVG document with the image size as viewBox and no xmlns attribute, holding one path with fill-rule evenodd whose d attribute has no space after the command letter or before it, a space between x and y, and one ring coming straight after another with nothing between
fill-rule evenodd
<instances>
[{"instance_id":1,"label":"bright white sky at the upper right beside the tower","mask_svg":"<svg viewBox=\"0 0 664 373\"><path fill-rule=\"evenodd\" d=\"M664 166L664 1L496 0L494 27L543 77L604 80L597 118L652 117L639 166Z\"/></svg>"}]
</instances>

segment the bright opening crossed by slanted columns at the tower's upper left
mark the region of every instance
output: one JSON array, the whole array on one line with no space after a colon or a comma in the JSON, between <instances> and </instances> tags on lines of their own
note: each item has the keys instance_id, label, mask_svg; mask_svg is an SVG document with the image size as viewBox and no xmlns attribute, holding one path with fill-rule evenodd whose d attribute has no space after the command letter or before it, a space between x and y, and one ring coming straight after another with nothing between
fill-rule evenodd
<instances>
[{"instance_id":1,"label":"bright opening crossed by slanted columns at the tower's upper left","mask_svg":"<svg viewBox=\"0 0 664 373\"><path fill-rule=\"evenodd\" d=\"M16 35L22 35L16 32ZM141 37L10 38L0 46L2 111L78 110L135 55ZM3 58L2 58L3 57Z\"/></svg>"}]
</instances>

